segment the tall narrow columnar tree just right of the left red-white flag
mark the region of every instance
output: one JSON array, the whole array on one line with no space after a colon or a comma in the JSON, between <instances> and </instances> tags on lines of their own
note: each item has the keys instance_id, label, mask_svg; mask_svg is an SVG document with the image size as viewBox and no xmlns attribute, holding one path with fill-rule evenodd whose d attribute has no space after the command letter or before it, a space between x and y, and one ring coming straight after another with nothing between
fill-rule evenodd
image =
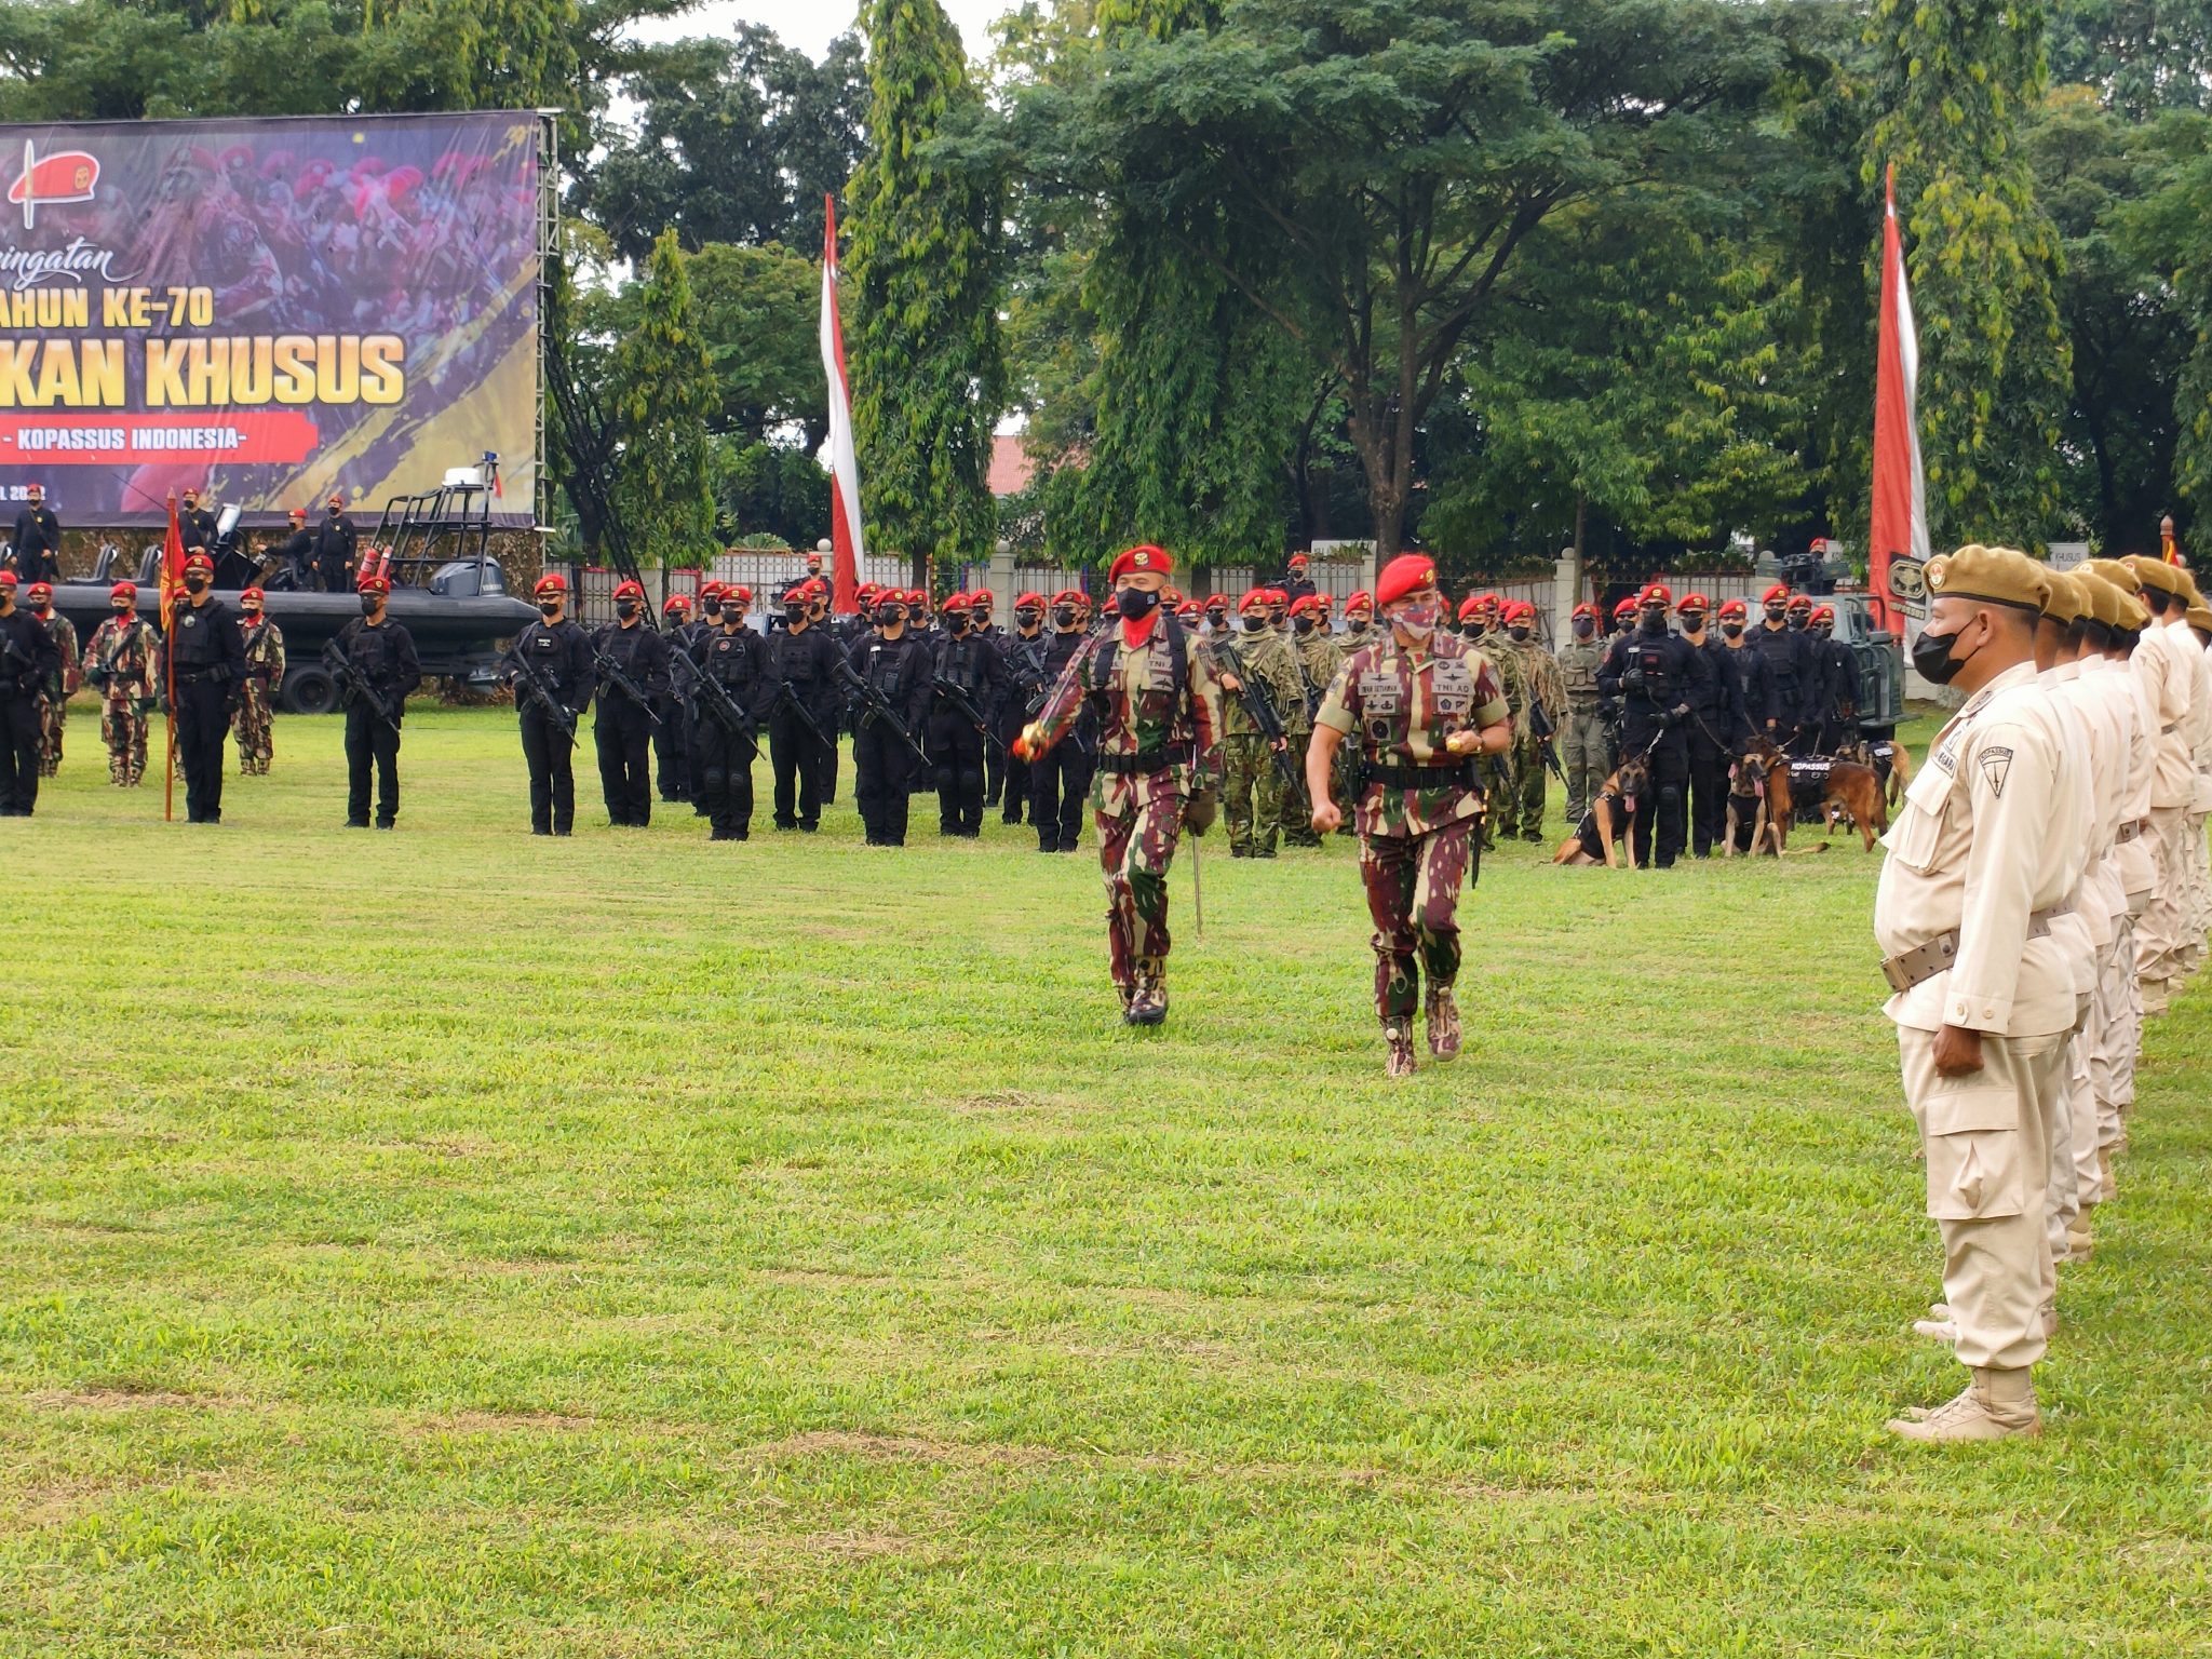
<instances>
[{"instance_id":1,"label":"tall narrow columnar tree just right of the left red-white flag","mask_svg":"<svg viewBox=\"0 0 2212 1659\"><path fill-rule=\"evenodd\" d=\"M1004 389L995 153L958 142L982 113L938 0L869 0L867 157L852 179L845 361L872 540L922 566L978 551Z\"/></svg>"}]
</instances>

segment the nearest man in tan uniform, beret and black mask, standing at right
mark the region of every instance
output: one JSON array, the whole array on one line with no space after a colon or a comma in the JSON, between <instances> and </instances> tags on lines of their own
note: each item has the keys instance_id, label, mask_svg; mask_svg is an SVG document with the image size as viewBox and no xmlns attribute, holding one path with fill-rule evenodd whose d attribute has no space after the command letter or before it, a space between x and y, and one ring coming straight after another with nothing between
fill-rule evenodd
<instances>
[{"instance_id":1,"label":"nearest man in tan uniform, beret and black mask, standing at right","mask_svg":"<svg viewBox=\"0 0 2212 1659\"><path fill-rule=\"evenodd\" d=\"M1944 1301L1971 1380L1907 1440L2035 1433L2031 1367L2053 1296L2044 1124L2068 1086L2075 971L2053 933L2088 836L2088 783L2035 684L2044 573L2008 549L1964 546L1927 568L1913 666L1966 703L1942 728L1882 838L1874 933L1920 1124L1927 1206L1942 1234Z\"/></svg>"}]
</instances>

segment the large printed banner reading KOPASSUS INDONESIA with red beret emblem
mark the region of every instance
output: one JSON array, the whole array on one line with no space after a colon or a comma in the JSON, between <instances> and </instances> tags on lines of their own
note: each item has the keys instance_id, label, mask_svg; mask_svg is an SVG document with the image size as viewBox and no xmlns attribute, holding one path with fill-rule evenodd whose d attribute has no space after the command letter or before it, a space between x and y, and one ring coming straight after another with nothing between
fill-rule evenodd
<instances>
[{"instance_id":1,"label":"large printed banner reading KOPASSUS INDONESIA with red beret emblem","mask_svg":"<svg viewBox=\"0 0 2212 1659\"><path fill-rule=\"evenodd\" d=\"M363 518L500 458L529 522L538 119L0 126L0 500Z\"/></svg>"}]
</instances>

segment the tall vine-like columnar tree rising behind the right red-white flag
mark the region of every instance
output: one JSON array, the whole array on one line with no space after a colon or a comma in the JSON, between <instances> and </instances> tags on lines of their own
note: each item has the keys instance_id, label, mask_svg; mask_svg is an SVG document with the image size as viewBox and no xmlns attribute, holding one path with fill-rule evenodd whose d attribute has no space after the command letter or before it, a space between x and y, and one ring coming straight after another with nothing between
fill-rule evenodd
<instances>
[{"instance_id":1,"label":"tall vine-like columnar tree rising behind the right red-white flag","mask_svg":"<svg viewBox=\"0 0 2212 1659\"><path fill-rule=\"evenodd\" d=\"M1878 117L1865 177L1878 186L1885 164L1898 168L1938 542L2039 544L2059 526L2059 239L2022 146L2044 91L2044 22L2035 0L1876 0L1867 24Z\"/></svg>"}]
</instances>

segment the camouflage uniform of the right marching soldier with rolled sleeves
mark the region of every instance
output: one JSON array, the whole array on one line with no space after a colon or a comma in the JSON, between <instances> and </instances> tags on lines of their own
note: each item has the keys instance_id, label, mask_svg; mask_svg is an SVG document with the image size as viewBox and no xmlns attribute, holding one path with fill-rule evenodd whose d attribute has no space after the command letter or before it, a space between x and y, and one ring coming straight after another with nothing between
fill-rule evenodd
<instances>
[{"instance_id":1,"label":"camouflage uniform of the right marching soldier with rolled sleeves","mask_svg":"<svg viewBox=\"0 0 2212 1659\"><path fill-rule=\"evenodd\" d=\"M1352 653L1321 701L1316 721L1360 745L1360 883L1376 925L1385 1029L1411 1022L1422 971L1431 1002L1460 975L1460 883L1482 792L1473 757L1453 757L1444 743L1502 719L1506 699L1489 659L1442 630L1413 650L1385 635Z\"/></svg>"}]
</instances>

